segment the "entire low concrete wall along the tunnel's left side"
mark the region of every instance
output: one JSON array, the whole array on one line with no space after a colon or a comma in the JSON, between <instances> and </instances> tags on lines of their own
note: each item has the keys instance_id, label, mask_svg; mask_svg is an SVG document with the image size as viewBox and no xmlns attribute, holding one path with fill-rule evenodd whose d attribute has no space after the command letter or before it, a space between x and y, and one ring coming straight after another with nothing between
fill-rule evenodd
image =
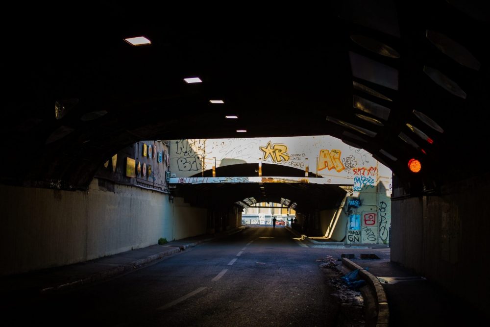
<instances>
[{"instance_id":1,"label":"entire low concrete wall along the tunnel's left side","mask_svg":"<svg viewBox=\"0 0 490 327\"><path fill-rule=\"evenodd\" d=\"M83 262L206 233L207 209L134 186L87 192L0 185L0 275ZM28 199L28 201L24 201Z\"/></svg>"}]
</instances>

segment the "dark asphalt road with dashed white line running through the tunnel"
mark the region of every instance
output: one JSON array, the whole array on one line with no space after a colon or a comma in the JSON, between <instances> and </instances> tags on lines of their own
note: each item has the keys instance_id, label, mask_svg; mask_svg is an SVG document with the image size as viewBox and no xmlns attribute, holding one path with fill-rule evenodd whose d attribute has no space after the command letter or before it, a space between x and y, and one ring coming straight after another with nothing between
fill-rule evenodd
<instances>
[{"instance_id":1,"label":"dark asphalt road with dashed white line running through the tunnel","mask_svg":"<svg viewBox=\"0 0 490 327\"><path fill-rule=\"evenodd\" d=\"M345 326L328 249L282 226L253 227L144 269L25 299L8 326ZM4 306L5 308L5 306Z\"/></svg>"}]
</instances>

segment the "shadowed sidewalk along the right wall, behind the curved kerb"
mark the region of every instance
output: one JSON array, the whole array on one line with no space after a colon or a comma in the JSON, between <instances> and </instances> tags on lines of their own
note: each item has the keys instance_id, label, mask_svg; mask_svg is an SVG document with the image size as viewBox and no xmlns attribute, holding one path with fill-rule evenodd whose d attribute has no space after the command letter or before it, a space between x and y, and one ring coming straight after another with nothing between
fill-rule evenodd
<instances>
[{"instance_id":1,"label":"shadowed sidewalk along the right wall, behind the curved kerb","mask_svg":"<svg viewBox=\"0 0 490 327\"><path fill-rule=\"evenodd\" d=\"M350 260L379 280L380 287L386 294L389 307L390 327L434 327L434 326L482 326L488 320L488 315L478 311L465 299L450 294L437 284L436 280L427 280L412 270L390 260L390 248L383 244L363 244L348 246L343 242L319 241L301 235L286 226L294 235L307 243L311 248L329 248L341 254L350 254ZM361 249L372 249L380 259L362 258ZM346 273L350 268L342 270ZM468 276L471 271L468 270ZM468 277L468 287L478 287ZM371 285L372 286L372 285ZM374 287L371 287L375 291ZM375 307L375 297L366 297L365 306ZM387 326L380 324L379 326Z\"/></svg>"}]
</instances>

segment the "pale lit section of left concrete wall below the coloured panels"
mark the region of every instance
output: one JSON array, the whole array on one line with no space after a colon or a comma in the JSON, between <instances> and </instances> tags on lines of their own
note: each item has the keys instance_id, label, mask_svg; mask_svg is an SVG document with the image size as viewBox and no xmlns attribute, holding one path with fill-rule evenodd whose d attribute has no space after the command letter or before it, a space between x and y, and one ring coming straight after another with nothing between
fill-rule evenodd
<instances>
[{"instance_id":1,"label":"pale lit section of left concrete wall below the coloured panels","mask_svg":"<svg viewBox=\"0 0 490 327\"><path fill-rule=\"evenodd\" d=\"M87 260L172 239L166 194L118 184L114 193L103 192L95 181L87 200Z\"/></svg>"}]
</instances>

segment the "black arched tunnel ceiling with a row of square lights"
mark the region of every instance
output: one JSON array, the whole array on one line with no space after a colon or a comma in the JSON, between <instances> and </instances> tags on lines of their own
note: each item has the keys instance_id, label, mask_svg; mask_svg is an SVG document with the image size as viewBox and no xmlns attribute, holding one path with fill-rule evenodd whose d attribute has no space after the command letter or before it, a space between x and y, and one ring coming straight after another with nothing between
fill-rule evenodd
<instances>
[{"instance_id":1,"label":"black arched tunnel ceiling with a row of square lights","mask_svg":"<svg viewBox=\"0 0 490 327\"><path fill-rule=\"evenodd\" d=\"M138 140L304 135L364 148L407 183L477 175L490 58L477 2L190 7L6 10L1 182L86 189ZM141 35L151 45L123 41Z\"/></svg>"}]
</instances>

